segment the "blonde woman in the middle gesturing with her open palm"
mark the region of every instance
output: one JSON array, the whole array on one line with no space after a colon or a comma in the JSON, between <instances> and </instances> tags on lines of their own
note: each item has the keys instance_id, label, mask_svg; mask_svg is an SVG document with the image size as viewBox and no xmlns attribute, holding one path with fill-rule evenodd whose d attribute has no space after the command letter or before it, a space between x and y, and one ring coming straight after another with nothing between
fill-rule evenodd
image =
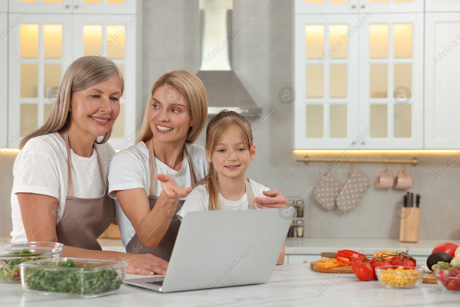
<instances>
[{"instance_id":1,"label":"blonde woman in the middle gesturing with her open palm","mask_svg":"<svg viewBox=\"0 0 460 307\"><path fill-rule=\"evenodd\" d=\"M194 144L206 120L206 90L198 77L173 70L155 81L137 144L115 155L109 172L128 253L169 261L180 226L176 214L208 172L205 150ZM270 197L255 199L259 208L288 206L279 191L265 193Z\"/></svg>"}]
</instances>

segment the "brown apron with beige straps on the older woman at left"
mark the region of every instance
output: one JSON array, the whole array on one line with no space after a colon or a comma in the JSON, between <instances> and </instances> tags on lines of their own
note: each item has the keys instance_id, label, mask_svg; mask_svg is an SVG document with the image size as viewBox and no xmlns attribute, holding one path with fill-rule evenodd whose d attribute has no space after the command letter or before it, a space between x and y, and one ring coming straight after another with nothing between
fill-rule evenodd
<instances>
[{"instance_id":1,"label":"brown apron with beige straps on the older woman at left","mask_svg":"<svg viewBox=\"0 0 460 307\"><path fill-rule=\"evenodd\" d=\"M104 178L104 195L98 198L75 197L74 180L70 162L69 133L64 131L67 146L67 198L63 219L56 225L57 242L82 249L102 250L96 240L115 218L115 205L109 197L109 187L105 178L104 165L99 156L96 143L94 150L98 156L98 164ZM88 182L88 184L92 184Z\"/></svg>"}]
</instances>

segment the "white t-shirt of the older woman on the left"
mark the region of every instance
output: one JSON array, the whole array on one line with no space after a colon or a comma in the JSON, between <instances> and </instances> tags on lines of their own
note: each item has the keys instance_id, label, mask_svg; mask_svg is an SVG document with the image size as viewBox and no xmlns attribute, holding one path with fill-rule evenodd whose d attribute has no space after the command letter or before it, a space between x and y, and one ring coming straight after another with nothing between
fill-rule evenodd
<instances>
[{"instance_id":1,"label":"white t-shirt of the older woman on the left","mask_svg":"<svg viewBox=\"0 0 460 307\"><path fill-rule=\"evenodd\" d=\"M96 146L107 176L115 151L109 143ZM78 156L72 149L70 154L75 197L94 198L104 195L104 179L99 170L96 151L93 150L89 158ZM11 241L27 241L16 193L36 193L57 198L56 225L63 218L67 198L67 147L59 133L46 133L30 139L14 161L13 177Z\"/></svg>"}]
</instances>

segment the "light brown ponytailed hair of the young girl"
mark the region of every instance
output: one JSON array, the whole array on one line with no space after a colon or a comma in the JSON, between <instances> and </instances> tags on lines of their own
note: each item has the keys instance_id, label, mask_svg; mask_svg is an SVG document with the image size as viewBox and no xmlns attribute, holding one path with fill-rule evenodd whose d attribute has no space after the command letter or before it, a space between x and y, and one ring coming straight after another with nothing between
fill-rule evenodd
<instances>
[{"instance_id":1,"label":"light brown ponytailed hair of the young girl","mask_svg":"<svg viewBox=\"0 0 460 307\"><path fill-rule=\"evenodd\" d=\"M213 153L220 143L228 128L235 127L238 133L240 133L242 143L245 145L247 150L251 150L253 147L253 133L251 128L251 122L246 116L242 116L235 111L222 110L216 116L214 116L206 128L206 151L210 153L211 162L209 162L209 172L201 179L196 185L207 184L207 191L209 193L209 210L217 210L219 207L219 178L217 171L214 168ZM233 148L236 151L237 148ZM222 161L222 166L224 165Z\"/></svg>"}]
</instances>

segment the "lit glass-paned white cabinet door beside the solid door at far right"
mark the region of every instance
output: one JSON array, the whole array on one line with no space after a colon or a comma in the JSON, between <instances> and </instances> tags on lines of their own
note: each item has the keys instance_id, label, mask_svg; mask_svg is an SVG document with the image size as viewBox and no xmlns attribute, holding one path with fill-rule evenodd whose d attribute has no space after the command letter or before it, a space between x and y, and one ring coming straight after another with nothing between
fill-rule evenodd
<instances>
[{"instance_id":1,"label":"lit glass-paned white cabinet door beside the solid door at far right","mask_svg":"<svg viewBox=\"0 0 460 307\"><path fill-rule=\"evenodd\" d=\"M423 14L372 14L359 53L360 149L423 148Z\"/></svg>"}]
</instances>

